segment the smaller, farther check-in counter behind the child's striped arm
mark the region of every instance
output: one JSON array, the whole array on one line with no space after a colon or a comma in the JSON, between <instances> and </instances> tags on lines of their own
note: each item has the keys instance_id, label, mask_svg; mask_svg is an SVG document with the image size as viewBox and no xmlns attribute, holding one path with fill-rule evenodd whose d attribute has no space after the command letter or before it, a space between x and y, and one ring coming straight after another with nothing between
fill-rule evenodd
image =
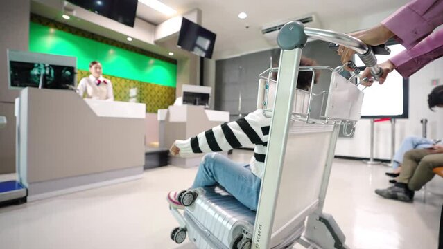
<instances>
[{"instance_id":1,"label":"smaller, farther check-in counter behind the child's striped arm","mask_svg":"<svg viewBox=\"0 0 443 249\"><path fill-rule=\"evenodd\" d=\"M229 122L229 112L206 110L202 106L177 105L158 110L159 142L169 148L175 140L186 140L202 131ZM170 165L192 167L200 163L203 154L180 158L171 156Z\"/></svg>"}]
</instances>

